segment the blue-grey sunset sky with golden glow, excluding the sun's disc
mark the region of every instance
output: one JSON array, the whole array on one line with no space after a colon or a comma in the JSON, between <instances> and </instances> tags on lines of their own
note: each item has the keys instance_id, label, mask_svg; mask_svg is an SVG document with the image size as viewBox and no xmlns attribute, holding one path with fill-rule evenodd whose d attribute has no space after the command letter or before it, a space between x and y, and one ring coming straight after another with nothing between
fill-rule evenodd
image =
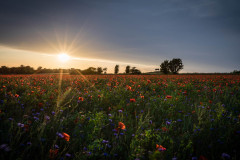
<instances>
[{"instance_id":1,"label":"blue-grey sunset sky with golden glow, excluding the sun's disc","mask_svg":"<svg viewBox=\"0 0 240 160\"><path fill-rule=\"evenodd\" d=\"M0 0L0 66L240 70L239 0ZM59 53L72 58L63 63Z\"/></svg>"}]
</instances>

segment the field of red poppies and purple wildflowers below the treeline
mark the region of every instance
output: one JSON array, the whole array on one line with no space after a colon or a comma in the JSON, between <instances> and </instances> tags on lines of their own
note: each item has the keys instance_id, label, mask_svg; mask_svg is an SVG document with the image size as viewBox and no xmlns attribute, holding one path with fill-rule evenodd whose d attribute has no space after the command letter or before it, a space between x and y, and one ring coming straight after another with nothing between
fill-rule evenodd
<instances>
[{"instance_id":1,"label":"field of red poppies and purple wildflowers below the treeline","mask_svg":"<svg viewBox=\"0 0 240 160\"><path fill-rule=\"evenodd\" d=\"M239 75L0 76L0 159L240 159Z\"/></svg>"}]
</instances>

